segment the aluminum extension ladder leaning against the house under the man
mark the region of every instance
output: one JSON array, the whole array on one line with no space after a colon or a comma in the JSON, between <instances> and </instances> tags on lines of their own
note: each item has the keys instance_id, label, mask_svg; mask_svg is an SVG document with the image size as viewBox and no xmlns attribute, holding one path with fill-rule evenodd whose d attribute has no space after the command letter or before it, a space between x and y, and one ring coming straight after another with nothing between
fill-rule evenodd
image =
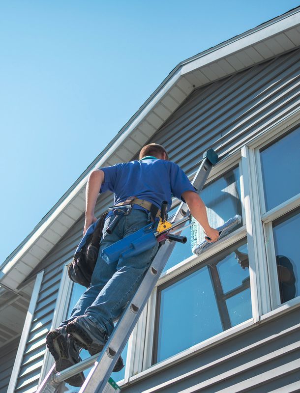
<instances>
[{"instance_id":1,"label":"aluminum extension ladder leaning against the house under the man","mask_svg":"<svg viewBox=\"0 0 300 393\"><path fill-rule=\"evenodd\" d=\"M201 166L192 181L192 184L198 193L200 193L203 188L210 173L210 169L217 163L217 161L218 156L213 149L209 149L204 153ZM178 221L182 222L177 226L176 232L178 232L178 228L182 228L189 220L189 216L190 212L187 205L181 202L175 216L172 219L172 223ZM72 365L60 372L54 372L55 365L53 365L36 393L57 393L60 389L61 383L65 379L86 370L92 365L93 368L90 370L90 373L79 393L120 392L120 388L113 379L110 378L110 375L165 267L165 264L168 261L169 256L174 249L174 246L174 241L165 242L165 244L158 249L158 252L156 253L143 281L134 294L132 300L128 303L103 350L99 354L93 355L90 358L85 359L76 365Z\"/></svg>"}]
</instances>

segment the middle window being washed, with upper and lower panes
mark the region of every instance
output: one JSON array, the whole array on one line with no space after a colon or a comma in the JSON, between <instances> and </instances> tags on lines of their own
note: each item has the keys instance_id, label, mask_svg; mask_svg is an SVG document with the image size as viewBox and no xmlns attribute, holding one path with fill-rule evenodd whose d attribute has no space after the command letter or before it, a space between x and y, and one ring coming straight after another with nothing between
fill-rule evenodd
<instances>
[{"instance_id":1,"label":"middle window being washed, with upper and lower panes","mask_svg":"<svg viewBox=\"0 0 300 393\"><path fill-rule=\"evenodd\" d=\"M210 181L200 196L207 206L211 226L220 226L236 214L242 216L239 166ZM190 228L182 231L188 242L176 244L165 267L174 269L167 276L162 275L157 285L151 364L252 318L243 230L243 240L234 235L225 250L211 251L205 260L191 252L195 235L191 238ZM193 232L197 233L197 243L204 239L200 225ZM185 265L191 263L192 267L183 268L182 272L176 265L188 257Z\"/></svg>"}]
</instances>

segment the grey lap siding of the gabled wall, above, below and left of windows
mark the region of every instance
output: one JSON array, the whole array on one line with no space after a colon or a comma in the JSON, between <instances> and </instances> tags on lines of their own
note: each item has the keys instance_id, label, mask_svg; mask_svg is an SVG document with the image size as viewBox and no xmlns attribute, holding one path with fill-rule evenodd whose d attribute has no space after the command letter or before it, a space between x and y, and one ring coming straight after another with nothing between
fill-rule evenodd
<instances>
[{"instance_id":1,"label":"grey lap siding of the gabled wall, above, below and left of windows","mask_svg":"<svg viewBox=\"0 0 300 393\"><path fill-rule=\"evenodd\" d=\"M198 168L203 153L209 148L225 159L297 109L300 101L299 70L298 49L201 87L186 99L150 141L164 145L170 159L178 163L187 175ZM101 196L96 215L105 211L111 202L111 195ZM83 224L82 217L31 274L32 277L44 270L16 392L33 393L36 389L45 356L45 337L52 325L55 308L59 307L56 303L63 266L72 258L82 236ZM297 336L299 308L295 307L290 312L279 313L262 326L254 323L246 331L218 342L217 346L211 344L205 350L165 366L152 375L132 378L131 384L128 385L127 381L122 390L144 392L179 378L174 384L150 389L149 393L232 393L240 392L246 386L245 381L249 386L256 386L255 392L275 392L276 389L292 392L288 386L299 381ZM232 353L235 355L231 356ZM193 373L199 367L202 368ZM180 378L184 373L191 374ZM274 374L277 376L275 380Z\"/></svg>"}]
</instances>

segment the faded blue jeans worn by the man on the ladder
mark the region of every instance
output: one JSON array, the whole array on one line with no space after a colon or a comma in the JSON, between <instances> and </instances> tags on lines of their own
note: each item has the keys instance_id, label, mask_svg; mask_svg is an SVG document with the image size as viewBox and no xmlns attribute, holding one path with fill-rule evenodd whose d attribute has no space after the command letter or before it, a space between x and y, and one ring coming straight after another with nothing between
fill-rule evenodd
<instances>
[{"instance_id":1,"label":"faded blue jeans worn by the man on the ladder","mask_svg":"<svg viewBox=\"0 0 300 393\"><path fill-rule=\"evenodd\" d=\"M114 319L120 315L134 295L157 252L158 243L139 255L119 259L108 265L100 257L101 251L147 225L148 222L146 211L132 209L128 216L121 217L113 233L108 234L106 228L114 217L109 217L105 221L91 285L76 303L70 318L63 321L60 326L66 325L79 315L85 315L96 324L101 332L110 336L114 329Z\"/></svg>"}]
</instances>

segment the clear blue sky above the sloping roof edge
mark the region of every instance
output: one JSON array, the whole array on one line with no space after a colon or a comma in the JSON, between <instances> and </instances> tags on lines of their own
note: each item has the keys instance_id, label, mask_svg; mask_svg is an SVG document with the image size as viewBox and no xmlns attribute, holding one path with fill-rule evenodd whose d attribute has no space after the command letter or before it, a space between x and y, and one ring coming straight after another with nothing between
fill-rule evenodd
<instances>
[{"instance_id":1,"label":"clear blue sky above the sloping roof edge","mask_svg":"<svg viewBox=\"0 0 300 393\"><path fill-rule=\"evenodd\" d=\"M187 57L294 0L0 0L0 263Z\"/></svg>"}]
</instances>

